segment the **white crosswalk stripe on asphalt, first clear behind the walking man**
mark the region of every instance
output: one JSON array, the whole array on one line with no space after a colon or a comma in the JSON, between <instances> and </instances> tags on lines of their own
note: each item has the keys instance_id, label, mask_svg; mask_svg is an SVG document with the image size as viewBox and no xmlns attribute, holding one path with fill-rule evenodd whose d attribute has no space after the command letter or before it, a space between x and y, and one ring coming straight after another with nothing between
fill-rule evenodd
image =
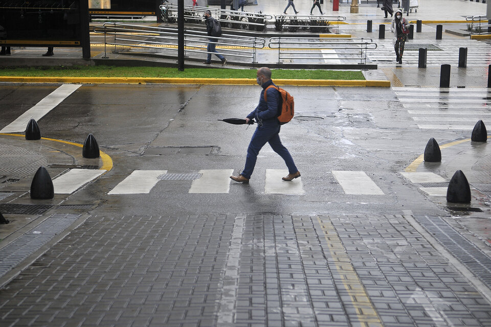
<instances>
[{"instance_id":1,"label":"white crosswalk stripe on asphalt, first clear behind the walking man","mask_svg":"<svg viewBox=\"0 0 491 327\"><path fill-rule=\"evenodd\" d=\"M365 172L334 170L332 174L346 194L384 195L384 192L368 177Z\"/></svg>"}]
</instances>

